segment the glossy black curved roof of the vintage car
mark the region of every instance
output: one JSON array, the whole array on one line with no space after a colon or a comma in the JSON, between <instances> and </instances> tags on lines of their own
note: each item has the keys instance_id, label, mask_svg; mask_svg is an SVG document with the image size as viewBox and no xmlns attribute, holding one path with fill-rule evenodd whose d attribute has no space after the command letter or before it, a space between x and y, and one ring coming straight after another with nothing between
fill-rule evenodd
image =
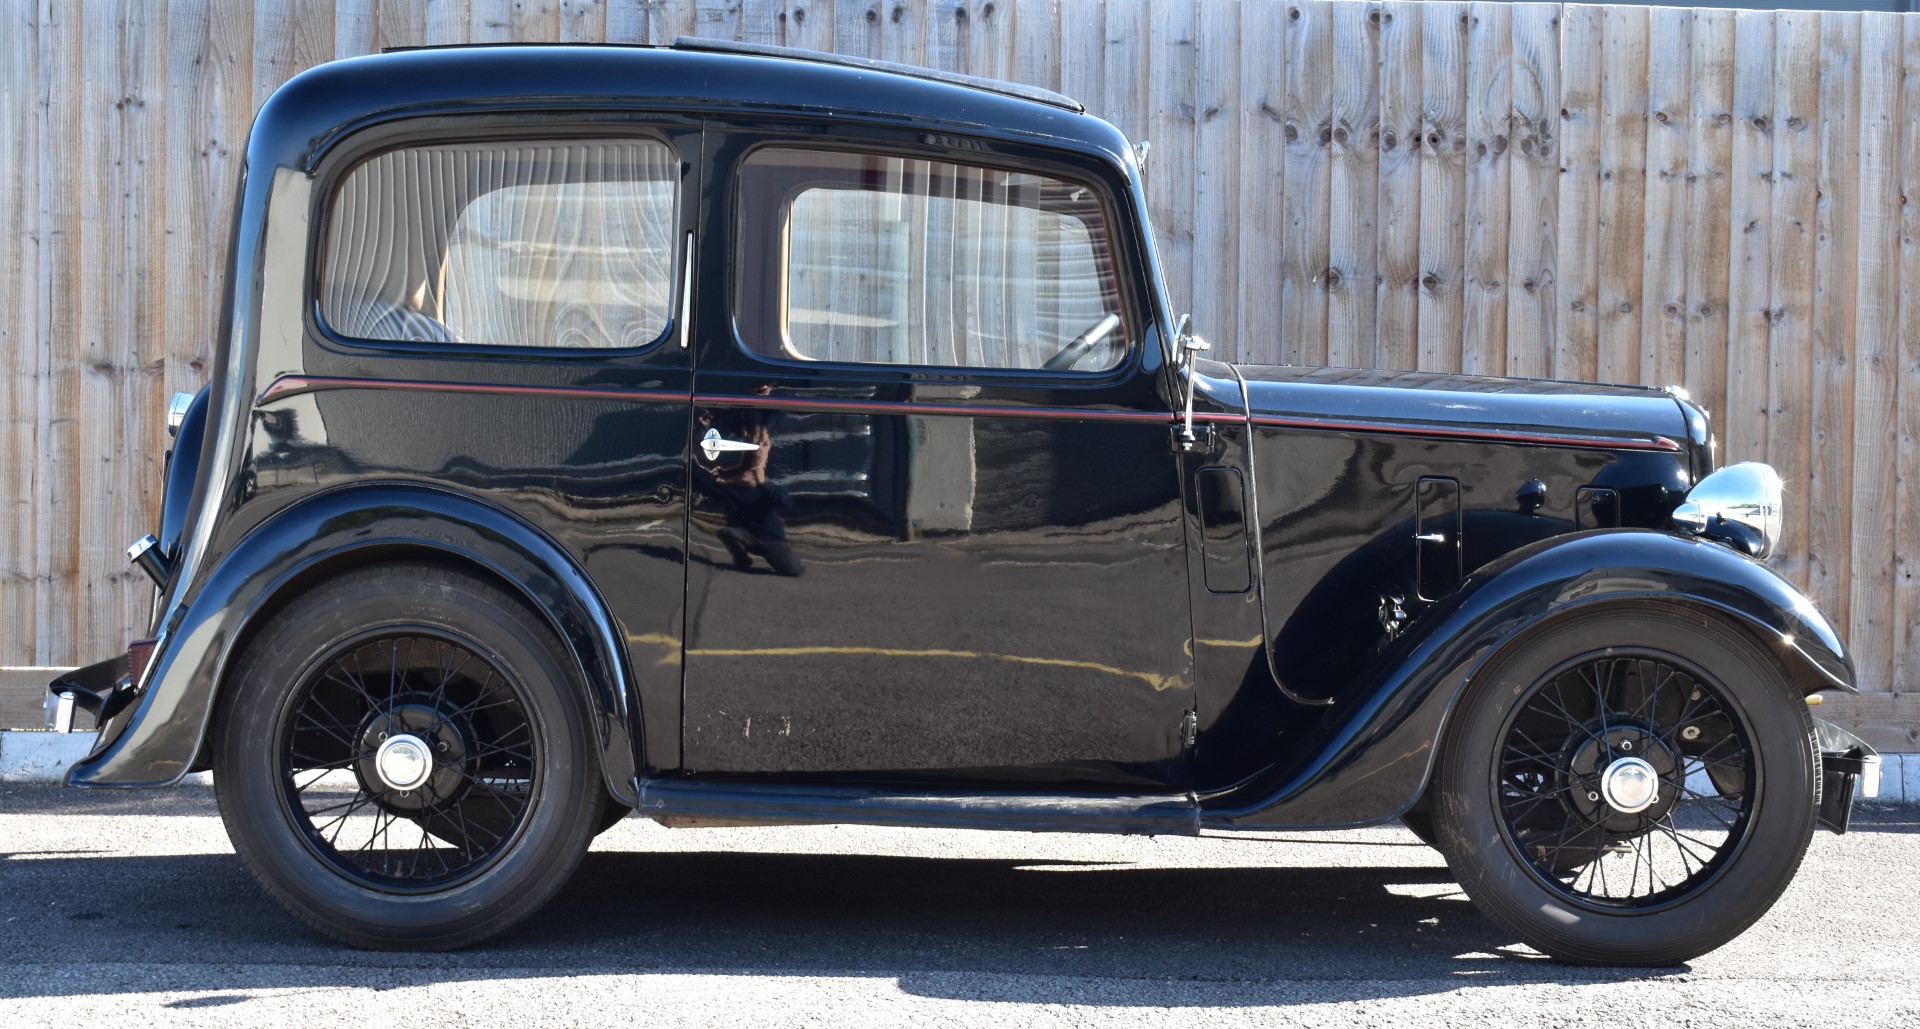
<instances>
[{"instance_id":1,"label":"glossy black curved roof of the vintage car","mask_svg":"<svg viewBox=\"0 0 1920 1029\"><path fill-rule=\"evenodd\" d=\"M296 75L269 98L253 144L265 144L275 163L309 165L369 117L501 109L505 104L791 111L1041 136L1114 156L1127 152L1117 129L1052 90L705 38L682 38L674 46L424 46L330 61ZM296 156L296 150L305 154Z\"/></svg>"}]
</instances>

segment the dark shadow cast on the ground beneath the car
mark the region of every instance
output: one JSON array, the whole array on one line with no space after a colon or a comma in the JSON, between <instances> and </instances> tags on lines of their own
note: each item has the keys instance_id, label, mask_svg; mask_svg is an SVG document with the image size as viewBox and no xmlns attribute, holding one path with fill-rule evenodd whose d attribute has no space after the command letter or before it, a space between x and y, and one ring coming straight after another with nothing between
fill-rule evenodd
<instances>
[{"instance_id":1,"label":"dark shadow cast on the ground beneath the car","mask_svg":"<svg viewBox=\"0 0 1920 1029\"><path fill-rule=\"evenodd\" d=\"M1286 1004L1473 981L1622 981L1482 920L1444 868L1139 868L872 854L588 854L530 921L455 954L324 943L230 854L0 854L0 996L405 987L578 975L893 977L912 994L1075 1004ZM23 900L33 898L33 900ZM75 975L75 964L108 975ZM1346 991L1340 991L1346 993Z\"/></svg>"}]
</instances>

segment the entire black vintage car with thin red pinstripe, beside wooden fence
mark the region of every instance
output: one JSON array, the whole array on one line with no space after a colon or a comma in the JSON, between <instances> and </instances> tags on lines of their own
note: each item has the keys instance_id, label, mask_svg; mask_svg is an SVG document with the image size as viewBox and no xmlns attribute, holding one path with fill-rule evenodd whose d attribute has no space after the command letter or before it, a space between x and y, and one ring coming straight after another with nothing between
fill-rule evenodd
<instances>
[{"instance_id":1,"label":"entire black vintage car with thin red pinstripe, beside wooden fence","mask_svg":"<svg viewBox=\"0 0 1920 1029\"><path fill-rule=\"evenodd\" d=\"M595 831L1404 820L1498 923L1667 964L1878 758L1674 392L1244 367L1135 148L789 50L442 48L261 109L152 639L67 776L211 768L359 946L486 939Z\"/></svg>"}]
</instances>

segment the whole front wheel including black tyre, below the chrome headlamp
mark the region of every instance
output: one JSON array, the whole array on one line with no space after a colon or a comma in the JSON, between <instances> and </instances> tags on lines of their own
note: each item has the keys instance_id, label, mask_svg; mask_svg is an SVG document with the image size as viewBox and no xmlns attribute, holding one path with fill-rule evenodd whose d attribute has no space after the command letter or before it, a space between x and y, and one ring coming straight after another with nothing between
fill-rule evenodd
<instances>
[{"instance_id":1,"label":"whole front wheel including black tyre, below the chrome headlamp","mask_svg":"<svg viewBox=\"0 0 1920 1029\"><path fill-rule=\"evenodd\" d=\"M1536 739L1559 722L1565 739ZM1630 810L1645 793L1607 785L1624 756L1655 768L1645 810ZM1816 781L1812 720L1774 655L1720 618L1611 609L1532 634L1475 678L1432 816L1461 887L1530 946L1672 966L1780 898L1812 835Z\"/></svg>"}]
</instances>

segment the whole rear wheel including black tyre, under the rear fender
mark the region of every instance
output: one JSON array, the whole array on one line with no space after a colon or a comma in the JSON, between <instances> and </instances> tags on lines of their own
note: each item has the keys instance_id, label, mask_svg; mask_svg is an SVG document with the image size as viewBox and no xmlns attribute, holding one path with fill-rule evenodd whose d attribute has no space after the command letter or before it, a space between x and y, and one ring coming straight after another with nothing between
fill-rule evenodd
<instances>
[{"instance_id":1,"label":"whole rear wheel including black tyre, under the rear fender","mask_svg":"<svg viewBox=\"0 0 1920 1029\"><path fill-rule=\"evenodd\" d=\"M572 658L468 574L388 564L326 580L278 610L225 682L213 785L234 850L342 943L492 937L561 889L603 818ZM372 747L388 737L426 756L382 766ZM409 758L424 779L401 791L390 770Z\"/></svg>"}]
</instances>

